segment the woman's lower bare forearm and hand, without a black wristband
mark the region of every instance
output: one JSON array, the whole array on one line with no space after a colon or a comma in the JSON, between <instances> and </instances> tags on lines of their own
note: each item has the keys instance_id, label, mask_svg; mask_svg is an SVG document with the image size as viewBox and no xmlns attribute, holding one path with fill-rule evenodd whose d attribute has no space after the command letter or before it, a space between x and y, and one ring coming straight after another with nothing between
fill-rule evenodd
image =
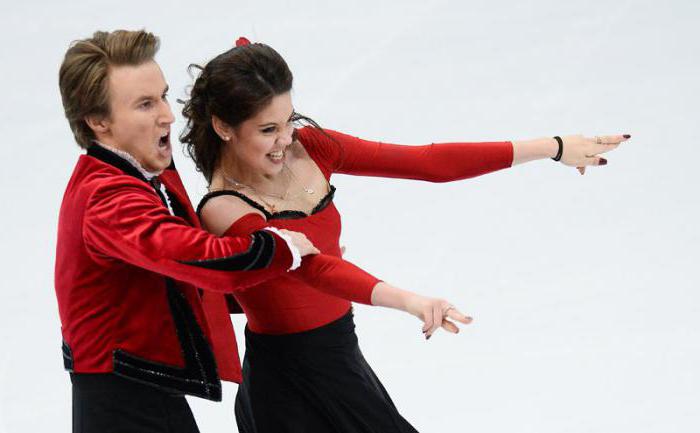
<instances>
[{"instance_id":1,"label":"woman's lower bare forearm and hand, without a black wristband","mask_svg":"<svg viewBox=\"0 0 700 433\"><path fill-rule=\"evenodd\" d=\"M444 299L421 296L394 287L384 281L374 286L372 305L396 308L416 316L423 321L423 334L425 334L426 339L430 338L440 327L447 332L458 333L459 328L450 319L465 325L472 322L471 317L465 316Z\"/></svg>"}]
</instances>

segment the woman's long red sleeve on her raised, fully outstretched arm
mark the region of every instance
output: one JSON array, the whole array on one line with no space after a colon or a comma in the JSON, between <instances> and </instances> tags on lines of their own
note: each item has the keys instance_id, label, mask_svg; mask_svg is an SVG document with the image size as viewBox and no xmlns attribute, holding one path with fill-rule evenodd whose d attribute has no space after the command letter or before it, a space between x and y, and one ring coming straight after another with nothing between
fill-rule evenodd
<instances>
[{"instance_id":1,"label":"woman's long red sleeve on her raised, fully outstretched arm","mask_svg":"<svg viewBox=\"0 0 700 433\"><path fill-rule=\"evenodd\" d=\"M363 140L312 127L297 133L326 172L450 182L508 168L513 163L510 141L410 146Z\"/></svg>"}]
</instances>

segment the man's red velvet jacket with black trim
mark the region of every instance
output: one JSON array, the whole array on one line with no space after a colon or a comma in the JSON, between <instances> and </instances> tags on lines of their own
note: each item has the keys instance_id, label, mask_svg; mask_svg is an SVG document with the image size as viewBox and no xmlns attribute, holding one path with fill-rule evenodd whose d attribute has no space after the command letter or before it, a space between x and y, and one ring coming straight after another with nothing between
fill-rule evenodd
<instances>
[{"instance_id":1,"label":"man's red velvet jacket with black trim","mask_svg":"<svg viewBox=\"0 0 700 433\"><path fill-rule=\"evenodd\" d=\"M56 252L64 365L220 400L222 372L196 287L231 293L254 286L285 273L292 255L267 230L220 238L194 228L199 222L174 166L158 179L147 181L97 144L78 160ZM238 359L231 361L225 373L240 376Z\"/></svg>"}]
</instances>

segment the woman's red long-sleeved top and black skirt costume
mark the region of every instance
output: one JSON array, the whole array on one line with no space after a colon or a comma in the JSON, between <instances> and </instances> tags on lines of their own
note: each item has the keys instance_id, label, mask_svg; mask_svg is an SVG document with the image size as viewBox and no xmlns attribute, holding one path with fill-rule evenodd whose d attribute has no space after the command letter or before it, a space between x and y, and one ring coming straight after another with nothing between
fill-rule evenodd
<instances>
[{"instance_id":1,"label":"woman's red long-sleeved top and black skirt costume","mask_svg":"<svg viewBox=\"0 0 700 433\"><path fill-rule=\"evenodd\" d=\"M415 431L396 411L383 386L357 347L351 301L370 303L379 281L347 262L322 261L340 257L340 214L333 204L333 173L448 182L510 167L511 142L441 143L405 146L361 140L331 130L305 127L297 139L329 182L329 191L310 214L285 210L268 212L236 191L256 208L229 227L225 235L240 236L266 225L303 232L322 252L288 274L252 290L236 292L245 312L246 357L243 382L236 398L241 432L274 431ZM332 272L318 274L332 268ZM319 275L315 278L315 275ZM311 282L309 284L308 282ZM219 297L215 293L207 297ZM221 305L218 303L217 305ZM233 304L231 311L236 311ZM221 317L219 312L212 314ZM219 323L216 332L232 332ZM220 339L217 356L236 348ZM296 429L296 430L294 430Z\"/></svg>"}]
</instances>

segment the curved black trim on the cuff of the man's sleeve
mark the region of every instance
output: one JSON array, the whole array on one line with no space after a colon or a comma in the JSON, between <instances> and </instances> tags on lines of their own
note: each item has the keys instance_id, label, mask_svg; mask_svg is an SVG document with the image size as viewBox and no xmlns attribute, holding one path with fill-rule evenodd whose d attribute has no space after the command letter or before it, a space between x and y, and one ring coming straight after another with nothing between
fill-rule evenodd
<instances>
[{"instance_id":1,"label":"curved black trim on the cuff of the man's sleeve","mask_svg":"<svg viewBox=\"0 0 700 433\"><path fill-rule=\"evenodd\" d=\"M268 267L275 256L275 238L265 230L258 230L251 236L253 242L248 251L218 259L180 261L180 263L217 271L250 271Z\"/></svg>"}]
</instances>

